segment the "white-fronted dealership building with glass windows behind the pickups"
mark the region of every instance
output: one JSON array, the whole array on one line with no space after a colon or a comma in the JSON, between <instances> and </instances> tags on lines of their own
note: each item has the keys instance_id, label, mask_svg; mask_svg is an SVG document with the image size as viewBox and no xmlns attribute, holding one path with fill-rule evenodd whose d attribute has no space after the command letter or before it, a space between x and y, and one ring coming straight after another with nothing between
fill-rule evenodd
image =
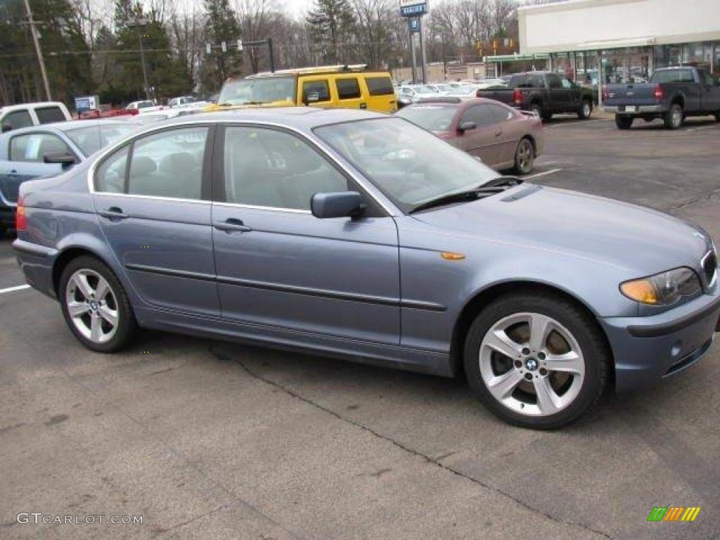
<instances>
[{"instance_id":1,"label":"white-fronted dealership building with glass windows behind the pickups","mask_svg":"<svg viewBox=\"0 0 720 540\"><path fill-rule=\"evenodd\" d=\"M720 0L570 0L521 7L518 23L519 58L598 91L667 66L720 75Z\"/></svg>"}]
</instances>

